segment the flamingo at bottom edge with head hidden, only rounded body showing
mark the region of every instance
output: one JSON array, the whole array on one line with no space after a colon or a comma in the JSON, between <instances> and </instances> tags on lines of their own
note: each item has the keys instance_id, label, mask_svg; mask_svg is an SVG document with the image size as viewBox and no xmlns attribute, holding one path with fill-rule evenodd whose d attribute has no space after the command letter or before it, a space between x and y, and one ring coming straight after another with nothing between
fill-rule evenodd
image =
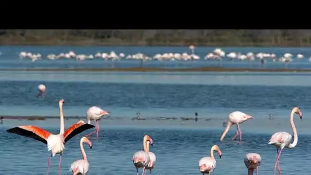
<instances>
[{"instance_id":1,"label":"flamingo at bottom edge with head hidden, only rounded body showing","mask_svg":"<svg viewBox=\"0 0 311 175\"><path fill-rule=\"evenodd\" d=\"M257 153L249 153L244 158L245 166L249 170L249 175L253 175L254 169L256 169L256 174L258 175L258 167L261 163L261 156Z\"/></svg>"}]
</instances>

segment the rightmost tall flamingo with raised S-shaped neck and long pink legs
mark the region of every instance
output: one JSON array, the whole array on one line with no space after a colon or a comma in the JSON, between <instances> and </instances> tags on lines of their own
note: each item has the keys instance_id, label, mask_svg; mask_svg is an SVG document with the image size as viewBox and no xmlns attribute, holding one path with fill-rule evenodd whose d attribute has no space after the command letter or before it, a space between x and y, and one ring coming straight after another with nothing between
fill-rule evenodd
<instances>
[{"instance_id":1,"label":"rightmost tall flamingo with raised S-shaped neck and long pink legs","mask_svg":"<svg viewBox=\"0 0 311 175\"><path fill-rule=\"evenodd\" d=\"M281 152L284 147L287 148L294 148L297 143L298 143L298 134L296 130L296 126L294 124L294 114L298 114L300 119L302 119L302 113L300 112L298 107L294 107L292 112L291 112L291 127L293 129L294 133L294 142L291 143L292 141L292 135L286 132L277 132L274 135L271 136L271 139L269 141L269 145L274 145L276 147L277 151L277 159L274 165L274 174L276 174L276 167L278 167L279 174L281 174L281 168L280 168L280 156ZM281 148L279 152L279 148Z\"/></svg>"}]
</instances>

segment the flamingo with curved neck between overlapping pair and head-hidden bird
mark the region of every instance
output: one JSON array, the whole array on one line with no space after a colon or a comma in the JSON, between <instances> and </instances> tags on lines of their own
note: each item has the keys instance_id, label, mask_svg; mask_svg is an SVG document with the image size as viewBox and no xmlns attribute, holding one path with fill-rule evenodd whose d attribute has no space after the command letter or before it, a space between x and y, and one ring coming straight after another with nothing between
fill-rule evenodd
<instances>
[{"instance_id":1,"label":"flamingo with curved neck between overlapping pair and head-hidden bird","mask_svg":"<svg viewBox=\"0 0 311 175\"><path fill-rule=\"evenodd\" d=\"M217 145L212 146L211 151L210 151L211 157L204 157L198 161L198 167L202 174L207 173L210 175L216 168L216 160L214 157L214 151L218 152L219 159L221 158L221 155L223 155L221 153L220 148Z\"/></svg>"}]
</instances>

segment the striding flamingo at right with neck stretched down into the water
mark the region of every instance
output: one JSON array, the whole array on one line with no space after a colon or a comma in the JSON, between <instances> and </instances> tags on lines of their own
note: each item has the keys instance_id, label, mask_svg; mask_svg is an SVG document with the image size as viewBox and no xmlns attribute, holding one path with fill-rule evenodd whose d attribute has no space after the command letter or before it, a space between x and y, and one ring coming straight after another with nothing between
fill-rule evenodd
<instances>
[{"instance_id":1,"label":"striding flamingo at right with neck stretched down into the water","mask_svg":"<svg viewBox=\"0 0 311 175\"><path fill-rule=\"evenodd\" d=\"M232 140L234 140L238 135L240 135L240 141L242 141L242 132L240 129L240 125L241 123L249 120L249 119L253 119L254 117L252 117L251 115L239 112L239 111L235 111L229 114L229 119L228 119L228 123L227 123L227 127L223 133L223 135L220 137L220 141L223 141L226 134L229 132L230 127L233 124L236 124L236 133L234 135L234 137L232 138Z\"/></svg>"}]
</instances>

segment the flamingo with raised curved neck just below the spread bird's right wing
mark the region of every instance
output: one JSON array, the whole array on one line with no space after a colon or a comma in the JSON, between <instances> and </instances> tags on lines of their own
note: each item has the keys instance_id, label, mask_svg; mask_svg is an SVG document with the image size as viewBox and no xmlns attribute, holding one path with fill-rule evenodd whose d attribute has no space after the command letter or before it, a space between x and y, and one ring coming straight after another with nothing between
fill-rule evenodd
<instances>
[{"instance_id":1,"label":"flamingo with raised curved neck just below the spread bird's right wing","mask_svg":"<svg viewBox=\"0 0 311 175\"><path fill-rule=\"evenodd\" d=\"M90 148L92 149L92 142L88 140L86 137L82 137L80 140L80 148L81 148L83 159L75 161L70 166L70 171L72 171L74 175L77 175L77 174L86 175L88 172L88 169L90 168L90 164L88 164L87 162L86 154L83 148L83 143L87 143L88 146L90 146Z\"/></svg>"}]
</instances>

